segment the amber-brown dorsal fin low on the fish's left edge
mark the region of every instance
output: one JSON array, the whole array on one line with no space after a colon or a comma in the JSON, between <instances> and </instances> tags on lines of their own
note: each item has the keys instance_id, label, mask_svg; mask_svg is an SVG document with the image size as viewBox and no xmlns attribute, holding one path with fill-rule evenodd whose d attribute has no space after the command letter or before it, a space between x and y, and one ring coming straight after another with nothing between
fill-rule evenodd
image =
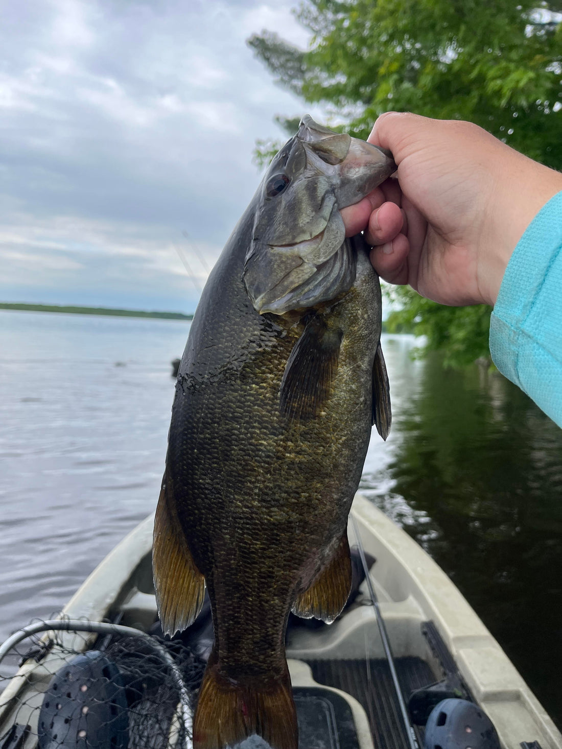
<instances>
[{"instance_id":1,"label":"amber-brown dorsal fin low on the fish's left edge","mask_svg":"<svg viewBox=\"0 0 562 749\"><path fill-rule=\"evenodd\" d=\"M172 499L172 482L165 479L154 518L152 568L160 624L170 636L193 624L205 598L205 577L193 562Z\"/></svg>"}]
</instances>

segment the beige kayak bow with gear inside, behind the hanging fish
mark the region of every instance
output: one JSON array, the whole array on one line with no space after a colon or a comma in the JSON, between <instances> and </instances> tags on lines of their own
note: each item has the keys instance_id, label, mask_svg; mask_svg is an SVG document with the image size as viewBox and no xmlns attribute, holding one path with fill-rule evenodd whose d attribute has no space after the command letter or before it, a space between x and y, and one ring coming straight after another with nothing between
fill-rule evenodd
<instances>
[{"instance_id":1,"label":"beige kayak bow with gear inside, behind the hanging fish","mask_svg":"<svg viewBox=\"0 0 562 749\"><path fill-rule=\"evenodd\" d=\"M190 747L211 618L206 604L187 631L162 636L153 524L151 515L126 536L55 622L4 643L0 658L13 662L17 651L19 666L0 679L0 749ZM549 715L429 555L360 494L348 535L355 583L345 610L331 625L292 615L288 624L300 746L447 749L434 741L446 719L439 706L470 703L502 747L562 749ZM240 746L266 745L253 736Z\"/></svg>"}]
</instances>

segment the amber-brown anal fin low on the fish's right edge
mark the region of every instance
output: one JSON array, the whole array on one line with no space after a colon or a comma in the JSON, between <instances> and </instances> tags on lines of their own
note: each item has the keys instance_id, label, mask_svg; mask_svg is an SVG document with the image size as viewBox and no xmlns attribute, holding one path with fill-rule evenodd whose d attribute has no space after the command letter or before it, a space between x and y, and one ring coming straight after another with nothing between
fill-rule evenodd
<instances>
[{"instance_id":1,"label":"amber-brown anal fin low on the fish's right edge","mask_svg":"<svg viewBox=\"0 0 562 749\"><path fill-rule=\"evenodd\" d=\"M293 613L303 619L323 619L330 624L342 612L351 591L351 558L348 534L344 533L336 553L327 567L301 593L293 606Z\"/></svg>"}]
</instances>

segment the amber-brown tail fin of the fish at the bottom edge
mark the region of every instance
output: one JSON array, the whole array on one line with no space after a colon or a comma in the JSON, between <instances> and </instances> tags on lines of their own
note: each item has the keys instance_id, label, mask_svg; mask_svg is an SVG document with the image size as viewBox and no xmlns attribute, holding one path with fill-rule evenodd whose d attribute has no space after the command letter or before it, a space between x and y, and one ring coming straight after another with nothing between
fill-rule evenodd
<instances>
[{"instance_id":1,"label":"amber-brown tail fin of the fish at the bottom edge","mask_svg":"<svg viewBox=\"0 0 562 749\"><path fill-rule=\"evenodd\" d=\"M224 749L257 733L272 749L297 749L297 713L288 670L280 679L242 684L218 672L211 656L193 720L193 749Z\"/></svg>"}]
</instances>

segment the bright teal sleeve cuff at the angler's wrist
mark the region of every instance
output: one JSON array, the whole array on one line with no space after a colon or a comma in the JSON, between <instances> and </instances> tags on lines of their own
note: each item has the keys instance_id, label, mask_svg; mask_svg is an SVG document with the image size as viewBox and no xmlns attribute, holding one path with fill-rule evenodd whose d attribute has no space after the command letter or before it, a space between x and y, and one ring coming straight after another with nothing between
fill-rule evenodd
<instances>
[{"instance_id":1,"label":"bright teal sleeve cuff at the angler's wrist","mask_svg":"<svg viewBox=\"0 0 562 749\"><path fill-rule=\"evenodd\" d=\"M562 426L562 192L513 251L492 312L490 352L500 372Z\"/></svg>"}]
</instances>

